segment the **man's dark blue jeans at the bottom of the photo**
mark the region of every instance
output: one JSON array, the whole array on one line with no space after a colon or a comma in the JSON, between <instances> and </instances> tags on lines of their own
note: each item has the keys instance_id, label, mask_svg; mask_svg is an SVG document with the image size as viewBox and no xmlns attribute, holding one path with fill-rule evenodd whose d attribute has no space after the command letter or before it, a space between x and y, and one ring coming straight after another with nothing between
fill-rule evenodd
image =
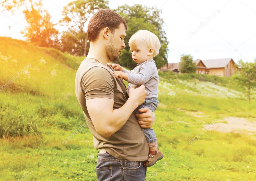
<instances>
[{"instance_id":1,"label":"man's dark blue jeans at the bottom of the photo","mask_svg":"<svg viewBox=\"0 0 256 181\"><path fill-rule=\"evenodd\" d=\"M108 152L98 153L95 167L99 181L141 181L145 180L147 168L143 167L144 161L120 160Z\"/></svg>"}]
</instances>

